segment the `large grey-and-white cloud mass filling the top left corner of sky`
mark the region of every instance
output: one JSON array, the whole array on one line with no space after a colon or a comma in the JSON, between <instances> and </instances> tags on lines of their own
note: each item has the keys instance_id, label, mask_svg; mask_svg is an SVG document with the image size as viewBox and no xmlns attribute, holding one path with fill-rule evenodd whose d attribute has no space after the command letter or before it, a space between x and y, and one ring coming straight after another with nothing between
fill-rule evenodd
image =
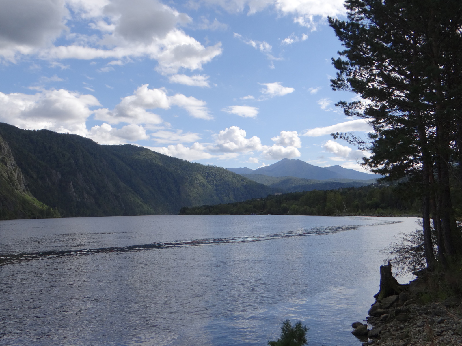
<instances>
[{"instance_id":1,"label":"large grey-and-white cloud mass filling the top left corner of sky","mask_svg":"<svg viewBox=\"0 0 462 346\"><path fill-rule=\"evenodd\" d=\"M158 61L159 73L173 74L200 70L222 52L220 42L205 47L188 36L179 26L191 18L156 0L67 0L72 12L64 0L3 2L0 57L10 61L21 54L47 60L149 57ZM80 21L95 34L73 32L73 22ZM68 44L54 46L64 31Z\"/></svg>"}]
</instances>

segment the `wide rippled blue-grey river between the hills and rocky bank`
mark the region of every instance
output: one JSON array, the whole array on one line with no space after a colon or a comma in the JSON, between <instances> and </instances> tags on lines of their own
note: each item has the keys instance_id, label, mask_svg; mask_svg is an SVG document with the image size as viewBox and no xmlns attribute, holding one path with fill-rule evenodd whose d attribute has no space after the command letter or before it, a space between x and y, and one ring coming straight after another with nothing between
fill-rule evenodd
<instances>
[{"instance_id":1,"label":"wide rippled blue-grey river between the hills and rocky bank","mask_svg":"<svg viewBox=\"0 0 462 346\"><path fill-rule=\"evenodd\" d=\"M256 346L289 318L310 328L310 346L358 346L350 325L378 291L380 250L415 221L0 221L0 345Z\"/></svg>"}]
</instances>

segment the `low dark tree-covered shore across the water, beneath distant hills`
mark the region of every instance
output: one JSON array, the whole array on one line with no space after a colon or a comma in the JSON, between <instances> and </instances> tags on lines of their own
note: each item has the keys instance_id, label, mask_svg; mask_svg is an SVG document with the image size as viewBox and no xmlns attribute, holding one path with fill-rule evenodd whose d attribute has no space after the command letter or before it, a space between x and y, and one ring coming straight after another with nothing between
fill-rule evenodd
<instances>
[{"instance_id":1,"label":"low dark tree-covered shore across the water, beneath distant hills","mask_svg":"<svg viewBox=\"0 0 462 346\"><path fill-rule=\"evenodd\" d=\"M270 195L244 202L183 207L179 215L420 215L418 196L399 185L369 185Z\"/></svg>"}]
</instances>

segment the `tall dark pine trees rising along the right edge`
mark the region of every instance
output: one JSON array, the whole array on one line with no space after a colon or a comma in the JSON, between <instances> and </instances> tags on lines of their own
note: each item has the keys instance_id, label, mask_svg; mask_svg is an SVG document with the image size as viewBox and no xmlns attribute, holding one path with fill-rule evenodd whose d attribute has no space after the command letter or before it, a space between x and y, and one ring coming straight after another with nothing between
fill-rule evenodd
<instances>
[{"instance_id":1,"label":"tall dark pine trees rising along the right edge","mask_svg":"<svg viewBox=\"0 0 462 346\"><path fill-rule=\"evenodd\" d=\"M451 196L462 181L462 2L346 0L345 6L346 21L328 19L345 47L333 59L338 72L331 86L361 96L337 106L368 119L375 132L367 140L333 136L370 150L364 163L372 172L409 179L421 198L427 266L447 270L462 255Z\"/></svg>"}]
</instances>

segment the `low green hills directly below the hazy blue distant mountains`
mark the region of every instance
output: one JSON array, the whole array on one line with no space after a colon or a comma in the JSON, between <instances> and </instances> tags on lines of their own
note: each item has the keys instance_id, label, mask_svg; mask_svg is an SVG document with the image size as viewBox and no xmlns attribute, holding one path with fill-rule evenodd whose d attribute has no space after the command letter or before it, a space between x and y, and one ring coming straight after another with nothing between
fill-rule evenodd
<instances>
[{"instance_id":1,"label":"low green hills directly below the hazy blue distant mountains","mask_svg":"<svg viewBox=\"0 0 462 346\"><path fill-rule=\"evenodd\" d=\"M312 190L333 190L342 187L359 187L374 183L376 179L355 180L355 179L328 179L316 180L297 177L270 177L263 174L244 174L243 177L267 185L278 192L298 192Z\"/></svg>"}]
</instances>

